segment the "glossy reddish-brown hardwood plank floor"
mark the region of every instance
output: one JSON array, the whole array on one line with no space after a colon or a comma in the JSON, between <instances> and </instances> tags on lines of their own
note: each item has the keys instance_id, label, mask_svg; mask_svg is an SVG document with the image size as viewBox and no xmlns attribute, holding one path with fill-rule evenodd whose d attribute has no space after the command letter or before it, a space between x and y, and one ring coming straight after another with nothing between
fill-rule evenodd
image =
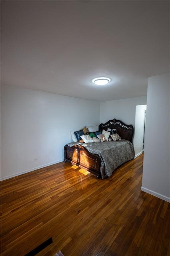
<instances>
[{"instance_id":1,"label":"glossy reddish-brown hardwood plank floor","mask_svg":"<svg viewBox=\"0 0 170 256\"><path fill-rule=\"evenodd\" d=\"M1 256L170 255L170 204L140 190L143 156L112 177L64 162L1 182Z\"/></svg>"}]
</instances>

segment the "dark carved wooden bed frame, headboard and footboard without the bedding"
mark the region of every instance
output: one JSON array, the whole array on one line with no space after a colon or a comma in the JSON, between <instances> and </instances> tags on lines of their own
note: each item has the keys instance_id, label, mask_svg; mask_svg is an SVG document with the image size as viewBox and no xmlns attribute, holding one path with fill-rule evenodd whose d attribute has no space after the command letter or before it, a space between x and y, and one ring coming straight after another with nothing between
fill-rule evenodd
<instances>
[{"instance_id":1,"label":"dark carved wooden bed frame, headboard and footboard without the bedding","mask_svg":"<svg viewBox=\"0 0 170 256\"><path fill-rule=\"evenodd\" d=\"M108 128L117 129L117 133L122 139L129 140L132 142L133 138L133 126L131 124L124 124L122 121L113 119L109 120L105 124L99 125L99 130L106 130ZM97 178L101 178L100 165L101 159L97 154L90 153L86 148L81 145L74 145L69 147L64 146L64 161L70 162L81 168L87 169L89 172L95 174Z\"/></svg>"}]
</instances>

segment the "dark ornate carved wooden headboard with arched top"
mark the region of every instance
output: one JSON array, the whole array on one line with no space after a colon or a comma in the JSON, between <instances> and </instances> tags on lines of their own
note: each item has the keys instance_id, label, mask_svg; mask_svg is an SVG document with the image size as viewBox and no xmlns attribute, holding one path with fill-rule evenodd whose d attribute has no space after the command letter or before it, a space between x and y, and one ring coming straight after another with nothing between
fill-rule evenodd
<instances>
[{"instance_id":1,"label":"dark ornate carved wooden headboard with arched top","mask_svg":"<svg viewBox=\"0 0 170 256\"><path fill-rule=\"evenodd\" d=\"M134 129L131 124L124 124L120 120L113 119L113 120L109 120L105 124L99 125L100 131L102 130L107 131L108 128L116 129L117 133L121 136L121 139L129 140L130 142L132 142Z\"/></svg>"}]
</instances>

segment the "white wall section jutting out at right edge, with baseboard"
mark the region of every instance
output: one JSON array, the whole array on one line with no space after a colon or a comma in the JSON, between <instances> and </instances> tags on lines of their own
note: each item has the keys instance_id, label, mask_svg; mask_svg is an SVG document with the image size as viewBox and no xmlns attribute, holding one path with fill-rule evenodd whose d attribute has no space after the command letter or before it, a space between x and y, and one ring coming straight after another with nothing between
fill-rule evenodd
<instances>
[{"instance_id":1,"label":"white wall section jutting out at right edge, with baseboard","mask_svg":"<svg viewBox=\"0 0 170 256\"><path fill-rule=\"evenodd\" d=\"M170 73L148 79L141 190L170 201Z\"/></svg>"}]
</instances>

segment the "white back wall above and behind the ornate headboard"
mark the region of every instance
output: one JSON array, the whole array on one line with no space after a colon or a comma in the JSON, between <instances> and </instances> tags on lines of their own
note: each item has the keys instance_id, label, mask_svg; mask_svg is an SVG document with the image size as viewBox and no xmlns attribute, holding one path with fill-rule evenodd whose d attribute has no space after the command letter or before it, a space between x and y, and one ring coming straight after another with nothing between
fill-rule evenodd
<instances>
[{"instance_id":1,"label":"white back wall above and behind the ornate headboard","mask_svg":"<svg viewBox=\"0 0 170 256\"><path fill-rule=\"evenodd\" d=\"M145 105L147 96L111 100L100 104L100 123L116 118L126 124L135 124L136 105Z\"/></svg>"}]
</instances>

